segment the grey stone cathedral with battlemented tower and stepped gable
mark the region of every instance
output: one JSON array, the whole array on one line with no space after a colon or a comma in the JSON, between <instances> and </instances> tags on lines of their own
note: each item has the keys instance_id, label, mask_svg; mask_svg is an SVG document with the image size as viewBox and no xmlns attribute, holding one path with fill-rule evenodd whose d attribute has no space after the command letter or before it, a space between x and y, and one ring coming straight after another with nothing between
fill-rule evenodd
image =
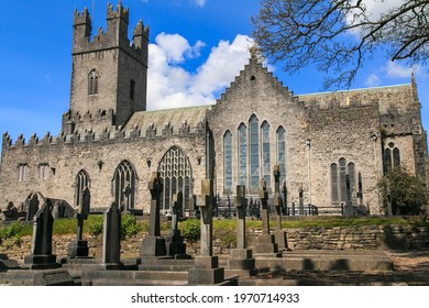
<instances>
[{"instance_id":1,"label":"grey stone cathedral with battlemented tower and stepped gable","mask_svg":"<svg viewBox=\"0 0 429 308\"><path fill-rule=\"evenodd\" d=\"M212 178L221 200L245 185L258 200L260 180L274 191L273 166L288 207L340 208L349 199L384 213L378 179L404 167L427 182L427 136L414 77L406 85L294 95L268 73L255 51L213 106L146 111L148 28L129 38L129 10L108 4L107 30L91 34L88 10L73 21L69 110L58 135L3 134L0 207L34 191L74 208L84 187L92 210L112 200L148 212L147 182L158 172L161 207L193 195ZM304 81L305 82L305 81Z\"/></svg>"}]
</instances>

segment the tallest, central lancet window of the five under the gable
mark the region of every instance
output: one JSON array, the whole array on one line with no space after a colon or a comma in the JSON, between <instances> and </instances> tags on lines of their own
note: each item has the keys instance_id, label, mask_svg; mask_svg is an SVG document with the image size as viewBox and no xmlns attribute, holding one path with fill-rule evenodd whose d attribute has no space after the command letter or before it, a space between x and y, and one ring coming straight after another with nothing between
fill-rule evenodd
<instances>
[{"instance_id":1,"label":"tallest, central lancet window of the five under the gable","mask_svg":"<svg viewBox=\"0 0 429 308\"><path fill-rule=\"evenodd\" d=\"M256 116L252 116L249 121L250 139L250 187L251 190L260 187L260 132Z\"/></svg>"}]
</instances>

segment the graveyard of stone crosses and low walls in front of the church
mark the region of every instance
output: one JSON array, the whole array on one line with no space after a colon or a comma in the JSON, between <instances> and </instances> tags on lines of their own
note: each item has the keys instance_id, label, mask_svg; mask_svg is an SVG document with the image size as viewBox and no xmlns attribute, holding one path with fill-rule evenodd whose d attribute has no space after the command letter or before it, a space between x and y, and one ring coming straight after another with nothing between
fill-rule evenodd
<instances>
[{"instance_id":1,"label":"graveyard of stone crosses and low walls in front of the church","mask_svg":"<svg viewBox=\"0 0 429 308\"><path fill-rule=\"evenodd\" d=\"M162 183L157 173L152 174L147 186L151 194L147 232L142 238L133 238L131 251L128 250L130 241L125 241L121 234L121 219L130 213L127 208L111 202L102 213L101 248L98 248L97 253L94 252L94 239L88 239L87 233L84 233L85 223L91 215L88 187L84 188L80 206L73 213L76 233L63 240L66 251L54 248L59 242L58 238L55 243L53 240L54 218L62 219L58 216L65 217L66 211L62 210L58 215L56 209L54 212L53 200L35 193L29 200L25 213L8 209L14 212L14 220L25 217L32 222L31 249L21 252L21 256L12 256L12 250L4 249L6 244L1 242L0 284L429 285L427 222L416 221L409 227L321 226L286 230L283 222L288 217L280 210L283 199L278 174L278 167L274 166L274 209L268 209L266 184L261 179L261 213L256 221L246 210L250 200L245 186L237 186L232 205L234 215L231 218L219 218L215 211L213 183L204 179L201 194L194 198L199 208L199 239L195 246L189 245L190 238L188 234L183 235L179 228L179 220L180 223L186 221L178 211L182 208L182 191L172 200L170 217L161 215ZM3 218L7 218L3 221L6 226L13 221L11 213ZM213 240L213 220L234 222L233 244L219 249L219 239ZM252 234L249 232L250 226ZM407 264L410 260L417 262Z\"/></svg>"}]
</instances>

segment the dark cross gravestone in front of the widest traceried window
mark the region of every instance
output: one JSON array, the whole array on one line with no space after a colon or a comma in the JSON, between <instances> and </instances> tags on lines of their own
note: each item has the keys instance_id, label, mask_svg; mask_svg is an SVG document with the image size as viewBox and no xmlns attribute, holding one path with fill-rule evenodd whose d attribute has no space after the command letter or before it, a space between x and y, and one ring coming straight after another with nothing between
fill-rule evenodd
<instances>
[{"instance_id":1,"label":"dark cross gravestone in front of the widest traceried window","mask_svg":"<svg viewBox=\"0 0 429 308\"><path fill-rule=\"evenodd\" d=\"M175 258L188 258L186 254L186 244L184 243L184 238L178 230L178 211L182 209L183 204L183 194L182 191L173 195L172 202L172 229L169 230L167 237L165 237L165 244L167 249L167 254Z\"/></svg>"}]
</instances>

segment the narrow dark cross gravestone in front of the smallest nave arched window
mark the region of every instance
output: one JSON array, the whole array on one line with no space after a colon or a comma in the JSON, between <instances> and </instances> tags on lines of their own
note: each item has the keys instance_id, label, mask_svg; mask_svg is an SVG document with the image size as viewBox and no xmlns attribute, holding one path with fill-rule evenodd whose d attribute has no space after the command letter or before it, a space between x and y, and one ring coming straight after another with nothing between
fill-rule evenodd
<instances>
[{"instance_id":1,"label":"narrow dark cross gravestone in front of the smallest nave arched window","mask_svg":"<svg viewBox=\"0 0 429 308\"><path fill-rule=\"evenodd\" d=\"M77 237L75 241L70 241L68 246L68 257L70 258L88 258L89 248L88 241L82 239L84 220L88 219L90 211L91 195L88 187L85 187L80 194L79 207L77 210Z\"/></svg>"}]
</instances>

